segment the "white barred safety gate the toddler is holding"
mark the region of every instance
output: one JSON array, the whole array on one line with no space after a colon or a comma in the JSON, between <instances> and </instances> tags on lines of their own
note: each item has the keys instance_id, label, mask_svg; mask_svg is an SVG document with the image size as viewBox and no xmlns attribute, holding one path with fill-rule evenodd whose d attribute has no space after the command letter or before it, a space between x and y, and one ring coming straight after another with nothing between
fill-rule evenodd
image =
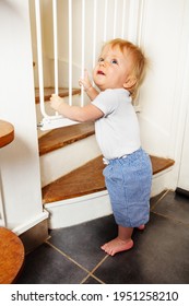
<instances>
[{"instance_id":1,"label":"white barred safety gate the toddler is holding","mask_svg":"<svg viewBox=\"0 0 189 306\"><path fill-rule=\"evenodd\" d=\"M44 101L44 67L43 67L43 40L42 40L42 2L46 0L35 0L35 20L36 20L36 40L37 40L37 64L38 64L38 85L39 102L43 120L39 123L42 130L54 129L62 126L76 123L75 121L63 118L55 113L49 116L46 111ZM73 84L73 42L79 39L81 58L76 63L81 70L81 76L84 73L88 61L93 68L96 62L96 56L104 42L121 37L140 45L141 27L143 23L143 7L145 0L51 0L52 14L52 36L54 36L54 73L55 73L55 93L59 93L59 42L58 33L62 31L61 21L58 21L59 5L64 5L63 10L68 15L68 84L69 84L69 104L72 105L72 84ZM61 2L61 3L60 3ZM74 25L73 13L80 11L81 28ZM58 26L59 25L59 26ZM62 25L63 26L63 25ZM81 89L82 107L85 102L83 89Z\"/></svg>"}]
</instances>

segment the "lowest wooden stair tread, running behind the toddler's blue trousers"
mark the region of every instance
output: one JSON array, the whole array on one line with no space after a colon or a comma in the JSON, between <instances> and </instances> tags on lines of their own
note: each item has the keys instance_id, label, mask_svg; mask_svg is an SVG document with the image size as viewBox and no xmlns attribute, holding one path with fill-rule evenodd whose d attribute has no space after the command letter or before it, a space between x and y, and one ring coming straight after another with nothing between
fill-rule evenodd
<instances>
[{"instance_id":1,"label":"lowest wooden stair tread, running behind the toddler's blue trousers","mask_svg":"<svg viewBox=\"0 0 189 306\"><path fill-rule=\"evenodd\" d=\"M169 158L151 156L151 161L153 174L174 165L174 161ZM50 203L105 190L104 167L103 156L98 156L60 177L43 188L43 202Z\"/></svg>"}]
</instances>

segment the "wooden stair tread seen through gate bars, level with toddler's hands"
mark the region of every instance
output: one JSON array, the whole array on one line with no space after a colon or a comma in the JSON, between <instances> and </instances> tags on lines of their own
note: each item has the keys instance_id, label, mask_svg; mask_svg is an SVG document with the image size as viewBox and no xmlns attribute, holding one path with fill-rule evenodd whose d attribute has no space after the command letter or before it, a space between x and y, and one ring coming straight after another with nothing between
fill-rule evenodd
<instances>
[{"instance_id":1,"label":"wooden stair tread seen through gate bars, level with toddler's hands","mask_svg":"<svg viewBox=\"0 0 189 306\"><path fill-rule=\"evenodd\" d=\"M45 87L44 89L44 99L49 101L51 94L55 93L55 87ZM80 89L72 89L72 95L78 95L81 93ZM66 97L69 96L69 89L59 89L59 96ZM39 89L35 89L35 103L39 103Z\"/></svg>"}]
</instances>

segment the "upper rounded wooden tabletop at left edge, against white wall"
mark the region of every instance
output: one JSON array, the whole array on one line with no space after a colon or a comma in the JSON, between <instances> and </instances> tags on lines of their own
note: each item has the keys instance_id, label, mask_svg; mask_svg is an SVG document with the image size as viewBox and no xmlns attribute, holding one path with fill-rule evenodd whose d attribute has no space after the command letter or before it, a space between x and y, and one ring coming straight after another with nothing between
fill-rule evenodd
<instances>
[{"instance_id":1,"label":"upper rounded wooden tabletop at left edge, against white wall","mask_svg":"<svg viewBox=\"0 0 189 306\"><path fill-rule=\"evenodd\" d=\"M0 120L0 148L9 144L14 139L14 127L4 120Z\"/></svg>"}]
</instances>

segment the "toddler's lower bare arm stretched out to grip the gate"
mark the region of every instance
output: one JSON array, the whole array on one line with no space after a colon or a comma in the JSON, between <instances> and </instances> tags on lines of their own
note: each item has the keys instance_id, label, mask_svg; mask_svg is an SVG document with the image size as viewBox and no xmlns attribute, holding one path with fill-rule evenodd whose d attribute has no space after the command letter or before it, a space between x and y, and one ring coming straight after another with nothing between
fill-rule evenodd
<instances>
[{"instance_id":1,"label":"toddler's lower bare arm stretched out to grip the gate","mask_svg":"<svg viewBox=\"0 0 189 306\"><path fill-rule=\"evenodd\" d=\"M50 106L64 117L79 122L95 121L104 116L104 113L93 104L84 107L70 106L56 94L50 97Z\"/></svg>"}]
</instances>

